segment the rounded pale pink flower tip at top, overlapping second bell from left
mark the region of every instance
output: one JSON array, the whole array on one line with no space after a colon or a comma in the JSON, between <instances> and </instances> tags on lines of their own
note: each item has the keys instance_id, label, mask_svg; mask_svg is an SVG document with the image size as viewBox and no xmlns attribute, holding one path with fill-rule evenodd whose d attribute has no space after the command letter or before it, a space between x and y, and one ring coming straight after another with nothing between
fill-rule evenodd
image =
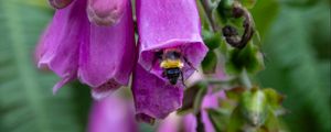
<instances>
[{"instance_id":1,"label":"rounded pale pink flower tip at top, overlapping second bell from left","mask_svg":"<svg viewBox=\"0 0 331 132\"><path fill-rule=\"evenodd\" d=\"M128 8L128 2L130 0L88 0L88 19L98 25L116 24Z\"/></svg>"}]
</instances>

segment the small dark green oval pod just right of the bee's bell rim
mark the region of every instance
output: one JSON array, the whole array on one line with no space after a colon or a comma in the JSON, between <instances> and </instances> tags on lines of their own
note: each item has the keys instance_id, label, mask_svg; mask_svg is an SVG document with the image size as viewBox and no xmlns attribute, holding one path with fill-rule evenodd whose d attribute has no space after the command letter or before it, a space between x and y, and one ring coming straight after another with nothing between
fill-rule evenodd
<instances>
[{"instance_id":1,"label":"small dark green oval pod just right of the bee's bell rim","mask_svg":"<svg viewBox=\"0 0 331 132\"><path fill-rule=\"evenodd\" d=\"M201 63L204 74L214 74L216 72L217 55L214 51L210 51Z\"/></svg>"}]
</instances>

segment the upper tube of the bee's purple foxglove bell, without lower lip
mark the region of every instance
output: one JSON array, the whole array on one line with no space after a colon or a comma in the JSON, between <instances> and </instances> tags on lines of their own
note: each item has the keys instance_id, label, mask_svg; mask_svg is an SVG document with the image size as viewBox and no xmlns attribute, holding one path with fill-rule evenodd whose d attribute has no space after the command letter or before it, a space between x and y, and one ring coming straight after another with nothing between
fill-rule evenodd
<instances>
[{"instance_id":1,"label":"upper tube of the bee's purple foxglove bell, without lower lip","mask_svg":"<svg viewBox=\"0 0 331 132\"><path fill-rule=\"evenodd\" d=\"M161 77L153 61L156 52L177 47L188 58L184 78L191 76L207 52L201 37L201 25L195 0L137 0L137 20L140 41L138 63Z\"/></svg>"}]
</instances>

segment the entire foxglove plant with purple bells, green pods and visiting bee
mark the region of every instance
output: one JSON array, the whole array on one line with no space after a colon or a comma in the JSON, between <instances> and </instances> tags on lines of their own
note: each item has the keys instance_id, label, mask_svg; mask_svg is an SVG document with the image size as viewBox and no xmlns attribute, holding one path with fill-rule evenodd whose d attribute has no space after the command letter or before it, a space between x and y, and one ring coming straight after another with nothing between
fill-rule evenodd
<instances>
[{"instance_id":1,"label":"entire foxglove plant with purple bells, green pods and visiting bee","mask_svg":"<svg viewBox=\"0 0 331 132\"><path fill-rule=\"evenodd\" d=\"M178 121L185 124L185 131L278 130L270 122L278 123L282 97L259 89L249 79L264 68L247 10L254 0L215 4L200 0L200 8L195 0L136 0L137 50L130 2L50 0L56 13L38 46L38 65L62 78L54 92L74 79L92 87L92 96L100 101L94 102L90 132L121 130L117 127L132 123L134 113L116 117L131 113L125 105L130 102L119 101L115 95L102 100L126 86L132 72L138 120L153 123L180 109L179 114L190 112ZM200 15L205 16L202 31ZM203 78L184 89L185 80L200 66ZM173 125L179 127L166 121L159 131L175 131Z\"/></svg>"}]
</instances>

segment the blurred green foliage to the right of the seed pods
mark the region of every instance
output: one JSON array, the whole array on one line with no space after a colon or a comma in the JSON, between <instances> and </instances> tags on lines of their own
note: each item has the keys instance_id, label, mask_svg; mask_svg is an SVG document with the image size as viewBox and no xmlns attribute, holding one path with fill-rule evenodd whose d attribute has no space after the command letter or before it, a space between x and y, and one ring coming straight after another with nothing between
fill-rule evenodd
<instances>
[{"instance_id":1,"label":"blurred green foliage to the right of the seed pods","mask_svg":"<svg viewBox=\"0 0 331 132\"><path fill-rule=\"evenodd\" d=\"M286 95L290 113L285 121L291 131L331 131L329 9L328 1L307 7L282 3L267 34L269 62L259 80Z\"/></svg>"}]
</instances>

